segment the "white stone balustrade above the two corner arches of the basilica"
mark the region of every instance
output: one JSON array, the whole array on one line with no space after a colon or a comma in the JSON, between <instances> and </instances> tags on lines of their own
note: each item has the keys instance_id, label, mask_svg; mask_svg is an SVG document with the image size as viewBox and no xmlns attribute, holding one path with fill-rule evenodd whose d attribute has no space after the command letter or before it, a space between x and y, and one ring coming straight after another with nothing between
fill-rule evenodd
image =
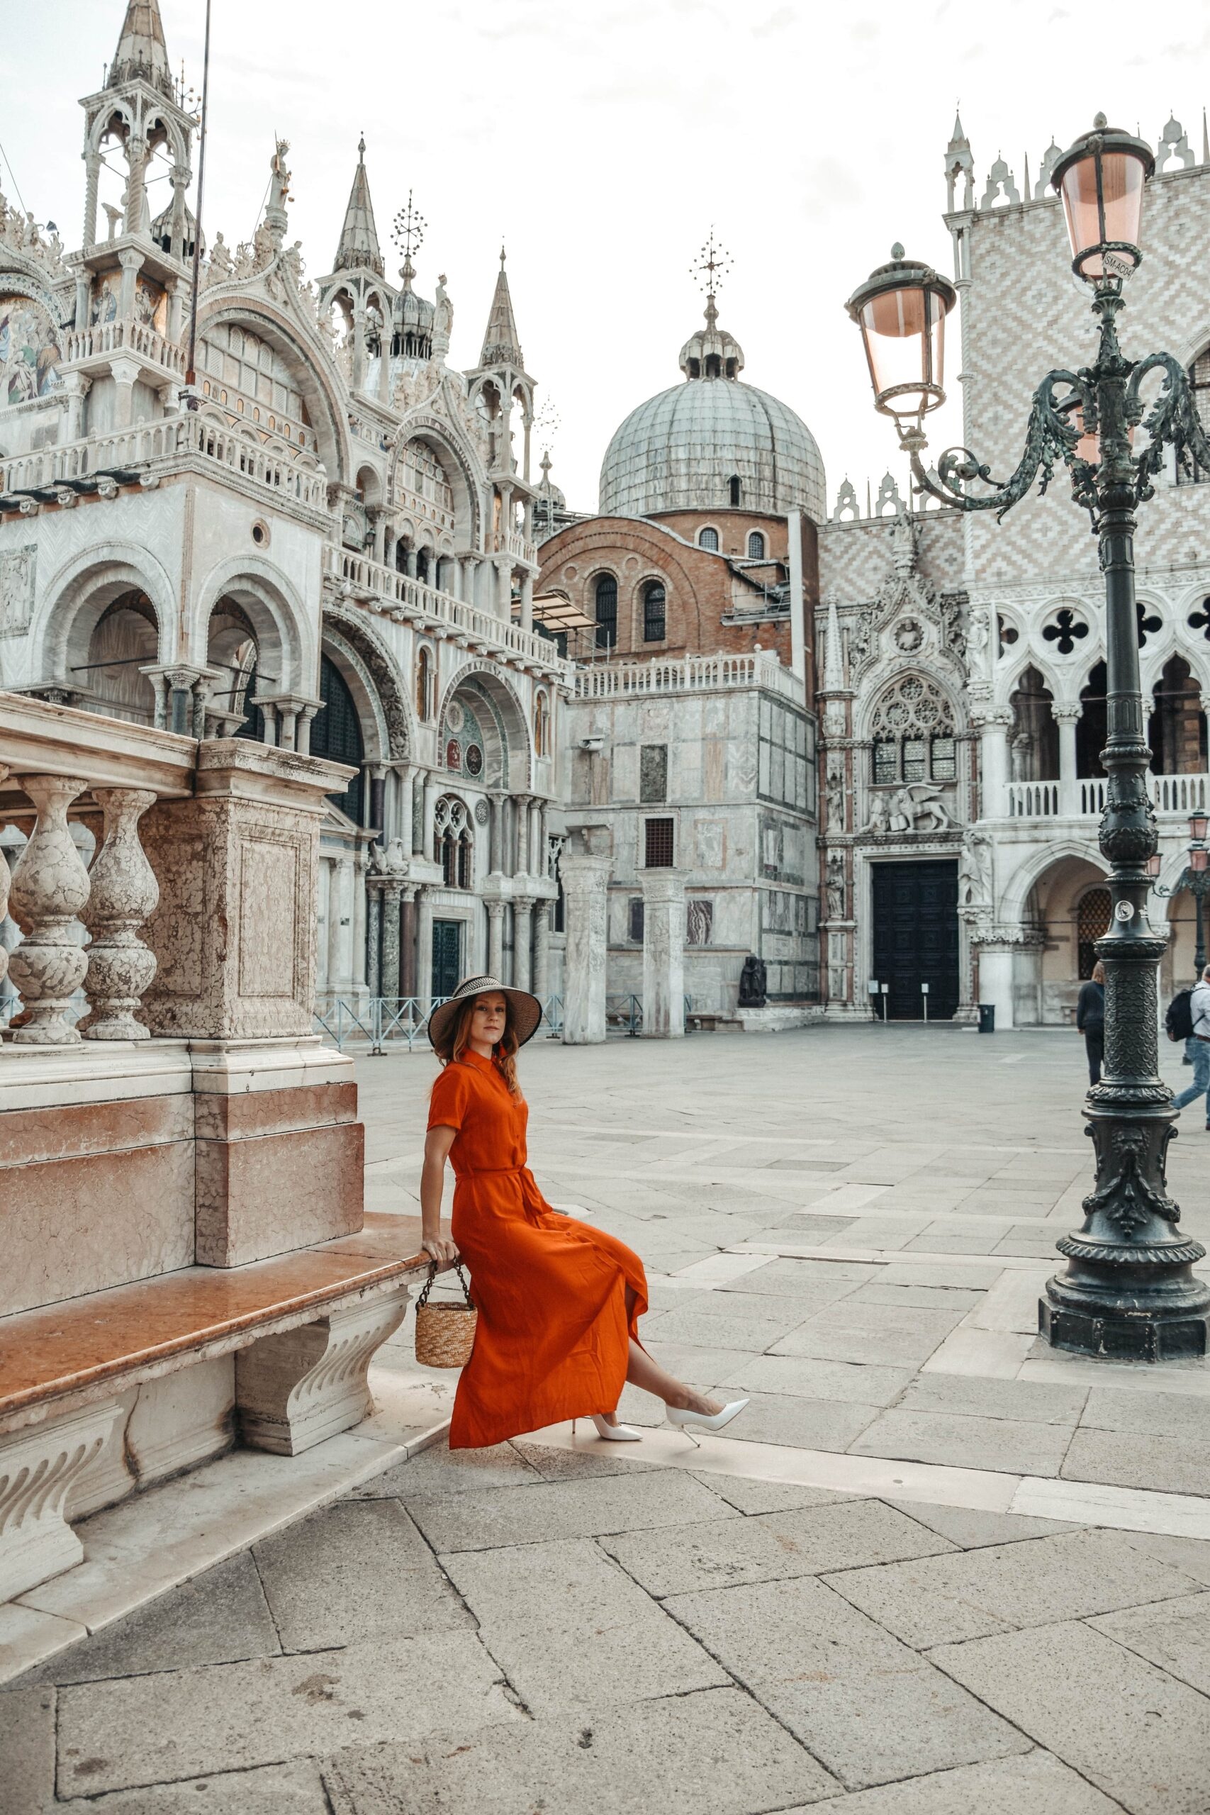
<instances>
[{"instance_id":1,"label":"white stone balustrade above the two corner arches of the basilica","mask_svg":"<svg viewBox=\"0 0 1210 1815\"><path fill-rule=\"evenodd\" d=\"M0 510L31 512L38 503L67 503L94 483L102 490L112 486L114 474L160 477L194 461L203 470L223 468L254 490L323 515L325 523L330 517L323 468L303 466L194 412L0 461Z\"/></svg>"}]
</instances>

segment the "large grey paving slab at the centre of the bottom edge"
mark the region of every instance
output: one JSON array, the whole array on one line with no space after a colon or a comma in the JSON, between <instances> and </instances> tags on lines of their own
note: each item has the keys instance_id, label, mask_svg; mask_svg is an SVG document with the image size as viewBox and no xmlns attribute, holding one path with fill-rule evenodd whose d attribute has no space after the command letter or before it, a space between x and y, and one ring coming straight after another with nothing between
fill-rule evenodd
<instances>
[{"instance_id":1,"label":"large grey paving slab at the centre of the bottom edge","mask_svg":"<svg viewBox=\"0 0 1210 1815\"><path fill-rule=\"evenodd\" d=\"M751 1815L840 1788L740 1690L328 1761L334 1815Z\"/></svg>"}]
</instances>

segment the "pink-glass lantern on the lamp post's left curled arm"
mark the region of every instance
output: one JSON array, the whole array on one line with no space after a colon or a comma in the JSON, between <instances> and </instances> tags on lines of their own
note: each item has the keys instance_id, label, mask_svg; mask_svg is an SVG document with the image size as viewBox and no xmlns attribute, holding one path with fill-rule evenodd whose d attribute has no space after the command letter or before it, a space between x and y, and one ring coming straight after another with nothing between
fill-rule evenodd
<instances>
[{"instance_id":1,"label":"pink-glass lantern on the lamp post's left curled arm","mask_svg":"<svg viewBox=\"0 0 1210 1815\"><path fill-rule=\"evenodd\" d=\"M956 301L947 278L903 258L896 245L891 263L871 272L845 303L862 330L874 408L894 417L900 439L905 421L920 427L929 410L945 403L945 316Z\"/></svg>"}]
</instances>

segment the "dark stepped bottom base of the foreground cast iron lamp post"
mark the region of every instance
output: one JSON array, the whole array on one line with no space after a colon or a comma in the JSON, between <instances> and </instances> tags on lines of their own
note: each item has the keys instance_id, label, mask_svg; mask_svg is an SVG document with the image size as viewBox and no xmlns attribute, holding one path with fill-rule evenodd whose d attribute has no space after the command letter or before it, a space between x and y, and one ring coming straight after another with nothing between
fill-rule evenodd
<instances>
[{"instance_id":1,"label":"dark stepped bottom base of the foreground cast iron lamp post","mask_svg":"<svg viewBox=\"0 0 1210 1815\"><path fill-rule=\"evenodd\" d=\"M1181 1251L1192 1251L1190 1258L1174 1251L1159 1278L1154 1263L1123 1260L1108 1278L1105 1263L1081 1265L1072 1256L1072 1270L1047 1280L1038 1300L1039 1334L1052 1349L1105 1361L1201 1359L1210 1350L1210 1285L1190 1272L1203 1254L1199 1243L1181 1243Z\"/></svg>"}]
</instances>

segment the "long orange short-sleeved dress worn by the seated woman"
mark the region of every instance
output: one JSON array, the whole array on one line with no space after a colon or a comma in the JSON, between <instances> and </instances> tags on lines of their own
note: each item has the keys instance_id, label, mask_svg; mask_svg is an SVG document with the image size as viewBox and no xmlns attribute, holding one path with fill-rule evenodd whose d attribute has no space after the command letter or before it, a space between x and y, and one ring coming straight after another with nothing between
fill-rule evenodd
<instances>
[{"instance_id":1,"label":"long orange short-sleeved dress worn by the seated woman","mask_svg":"<svg viewBox=\"0 0 1210 1815\"><path fill-rule=\"evenodd\" d=\"M457 1129L452 1232L479 1307L452 1450L611 1412L648 1309L639 1256L542 1198L526 1165L528 1118L479 1053L463 1053L434 1085L430 1129ZM629 1318L626 1287L635 1294Z\"/></svg>"}]
</instances>

